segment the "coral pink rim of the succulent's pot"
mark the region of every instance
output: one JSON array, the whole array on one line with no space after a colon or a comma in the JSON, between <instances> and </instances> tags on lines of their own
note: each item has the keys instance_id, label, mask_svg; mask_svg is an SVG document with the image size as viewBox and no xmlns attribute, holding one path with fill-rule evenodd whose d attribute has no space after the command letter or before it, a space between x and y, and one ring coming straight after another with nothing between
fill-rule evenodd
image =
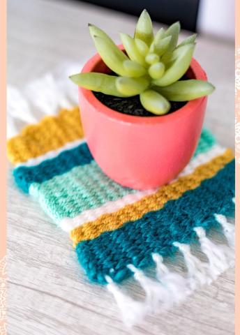
<instances>
[{"instance_id":1,"label":"coral pink rim of the succulent's pot","mask_svg":"<svg viewBox=\"0 0 240 335\"><path fill-rule=\"evenodd\" d=\"M123 45L118 45L119 49L123 50ZM100 55L98 53L94 54L89 61L82 68L82 73L93 72L93 69L97 64L103 62ZM196 59L192 58L190 62L189 69L193 73L194 79L197 80L207 80L207 75L200 66L200 64L196 61ZM203 96L202 98L197 98L192 101L188 101L186 105L179 108L170 114L165 115L156 115L153 117L140 117L137 115L129 115L123 114L121 112L117 112L117 110L112 110L112 108L107 107L103 103L101 103L96 96L94 96L93 91L89 89L84 89L82 87L78 87L79 93L82 93L84 98L88 101L89 104L93 105L96 110L102 114L105 114L106 117L110 119L114 119L115 121L121 121L128 124L162 124L165 122L176 121L177 119L181 119L183 117L188 117L188 114L194 112L204 100L207 99L207 96Z\"/></svg>"}]
</instances>

